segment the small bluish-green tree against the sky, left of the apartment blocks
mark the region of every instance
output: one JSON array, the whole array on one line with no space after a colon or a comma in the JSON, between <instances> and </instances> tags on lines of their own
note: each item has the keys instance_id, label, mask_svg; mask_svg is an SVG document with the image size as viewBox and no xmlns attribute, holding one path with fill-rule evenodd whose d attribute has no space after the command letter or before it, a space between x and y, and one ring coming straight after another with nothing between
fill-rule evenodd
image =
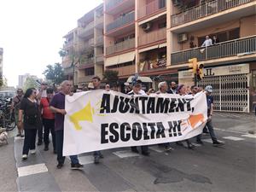
<instances>
[{"instance_id":1,"label":"small bluish-green tree against the sky, left of the apartment blocks","mask_svg":"<svg viewBox=\"0 0 256 192\"><path fill-rule=\"evenodd\" d=\"M45 78L50 80L54 86L56 84L61 84L61 82L64 80L64 71L60 63L48 65L43 74Z\"/></svg>"}]
</instances>

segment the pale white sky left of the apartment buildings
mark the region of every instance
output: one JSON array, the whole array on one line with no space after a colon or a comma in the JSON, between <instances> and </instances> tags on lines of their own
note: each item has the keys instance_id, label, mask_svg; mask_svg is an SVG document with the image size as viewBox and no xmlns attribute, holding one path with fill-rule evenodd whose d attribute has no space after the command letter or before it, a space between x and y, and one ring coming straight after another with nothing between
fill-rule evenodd
<instances>
[{"instance_id":1,"label":"pale white sky left of the apartment buildings","mask_svg":"<svg viewBox=\"0 0 256 192\"><path fill-rule=\"evenodd\" d=\"M3 76L9 86L24 73L42 74L49 64L61 62L63 36L77 20L102 0L0 0L0 47Z\"/></svg>"}]
</instances>

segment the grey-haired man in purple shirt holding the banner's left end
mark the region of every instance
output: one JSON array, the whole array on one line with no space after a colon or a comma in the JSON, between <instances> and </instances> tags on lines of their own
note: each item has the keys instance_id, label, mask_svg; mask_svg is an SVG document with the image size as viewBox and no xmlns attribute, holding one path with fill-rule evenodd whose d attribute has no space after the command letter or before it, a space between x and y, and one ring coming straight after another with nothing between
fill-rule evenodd
<instances>
[{"instance_id":1,"label":"grey-haired man in purple shirt holding the banner's left end","mask_svg":"<svg viewBox=\"0 0 256 192\"><path fill-rule=\"evenodd\" d=\"M64 137L64 116L67 113L65 110L65 96L71 93L72 84L70 81L65 80L61 83L61 91L53 96L49 103L49 109L55 113L55 141L58 165L57 168L61 169L64 165L65 157L62 155L63 150L63 137ZM78 155L71 155L71 168L81 169L83 166L79 164Z\"/></svg>"}]
</instances>

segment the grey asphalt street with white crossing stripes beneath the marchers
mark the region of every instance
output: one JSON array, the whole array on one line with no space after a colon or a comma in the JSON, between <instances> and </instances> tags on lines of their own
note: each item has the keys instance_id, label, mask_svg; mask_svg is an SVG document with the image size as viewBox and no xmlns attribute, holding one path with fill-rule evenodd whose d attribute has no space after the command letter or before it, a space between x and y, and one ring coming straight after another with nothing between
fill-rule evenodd
<instances>
[{"instance_id":1,"label":"grey asphalt street with white crossing stripes beneath the marchers","mask_svg":"<svg viewBox=\"0 0 256 192\"><path fill-rule=\"evenodd\" d=\"M57 170L51 146L48 152L40 146L38 154L23 163L18 155L22 140L16 139L15 152L12 143L0 148L0 162L5 160L0 166L0 191L256 191L256 137L247 135L256 128L256 119L232 115L217 113L213 117L224 147L212 147L207 140L210 137L203 136L204 144L195 150L173 143L172 152L154 146L149 157L129 156L130 148L115 148L102 152L104 159L99 165L93 164L90 154L81 154L82 171L72 171L69 160ZM38 171L27 172L31 165Z\"/></svg>"}]
</instances>

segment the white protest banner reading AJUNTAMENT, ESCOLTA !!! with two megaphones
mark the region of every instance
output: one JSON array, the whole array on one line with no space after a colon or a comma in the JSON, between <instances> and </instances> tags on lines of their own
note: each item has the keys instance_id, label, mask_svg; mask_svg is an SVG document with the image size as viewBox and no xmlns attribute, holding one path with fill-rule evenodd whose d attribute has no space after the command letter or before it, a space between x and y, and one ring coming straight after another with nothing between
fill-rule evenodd
<instances>
[{"instance_id":1,"label":"white protest banner reading AJUNTAMENT, ESCOLTA !!! with two megaphones","mask_svg":"<svg viewBox=\"0 0 256 192\"><path fill-rule=\"evenodd\" d=\"M128 96L92 90L66 96L63 155L171 143L195 137L207 122L206 94Z\"/></svg>"}]
</instances>

